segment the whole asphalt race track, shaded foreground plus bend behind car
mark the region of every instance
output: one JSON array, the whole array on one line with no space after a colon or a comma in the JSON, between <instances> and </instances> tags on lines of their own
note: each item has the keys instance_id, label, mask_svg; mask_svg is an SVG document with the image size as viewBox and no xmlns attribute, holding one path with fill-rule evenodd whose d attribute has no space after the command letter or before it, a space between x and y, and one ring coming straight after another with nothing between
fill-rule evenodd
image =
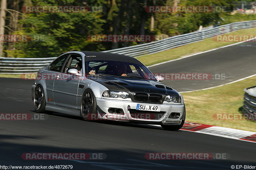
<instances>
[{"instance_id":1,"label":"whole asphalt race track, shaded foreground plus bend behind car","mask_svg":"<svg viewBox=\"0 0 256 170\"><path fill-rule=\"evenodd\" d=\"M165 84L179 91L207 88L255 74L255 44L243 43L209 53L151 67L152 72L225 73L226 80L175 80ZM160 70L161 68L161 70ZM159 70L159 71L156 71ZM175 71L174 71L175 70ZM185 83L186 82L186 83ZM197 84L197 85L195 85ZM0 113L35 114L33 81L0 78ZM187 113L189 114L189 113ZM231 169L256 166L256 144L193 133L165 131L150 125L122 122L85 122L79 117L54 113L47 120L1 121L0 165L73 165L73 169ZM22 153L105 153L105 160L23 160ZM146 153L225 153L226 160L147 160Z\"/></svg>"}]
</instances>

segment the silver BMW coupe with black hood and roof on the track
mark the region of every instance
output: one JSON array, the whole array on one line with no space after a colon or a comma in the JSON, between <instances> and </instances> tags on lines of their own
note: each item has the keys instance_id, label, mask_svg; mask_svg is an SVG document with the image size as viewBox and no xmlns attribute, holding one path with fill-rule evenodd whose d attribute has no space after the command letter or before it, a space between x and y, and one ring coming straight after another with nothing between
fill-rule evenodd
<instances>
[{"instance_id":1,"label":"silver BMW coupe with black hood and roof on the track","mask_svg":"<svg viewBox=\"0 0 256 170\"><path fill-rule=\"evenodd\" d=\"M157 124L178 130L185 121L182 95L136 58L72 51L41 68L32 85L38 113L59 112L85 121Z\"/></svg>"}]
</instances>

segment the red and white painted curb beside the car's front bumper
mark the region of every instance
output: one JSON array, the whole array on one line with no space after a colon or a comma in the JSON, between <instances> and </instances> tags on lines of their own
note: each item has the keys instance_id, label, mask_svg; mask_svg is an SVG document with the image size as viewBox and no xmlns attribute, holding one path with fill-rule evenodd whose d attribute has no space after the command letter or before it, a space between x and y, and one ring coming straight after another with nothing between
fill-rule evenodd
<instances>
[{"instance_id":1,"label":"red and white painted curb beside the car's front bumper","mask_svg":"<svg viewBox=\"0 0 256 170\"><path fill-rule=\"evenodd\" d=\"M155 126L159 126L159 125L155 125ZM224 128L220 126L212 126L212 125L192 123L192 122L185 122L183 127L180 130L256 143L256 132L251 132L246 130Z\"/></svg>"}]
</instances>

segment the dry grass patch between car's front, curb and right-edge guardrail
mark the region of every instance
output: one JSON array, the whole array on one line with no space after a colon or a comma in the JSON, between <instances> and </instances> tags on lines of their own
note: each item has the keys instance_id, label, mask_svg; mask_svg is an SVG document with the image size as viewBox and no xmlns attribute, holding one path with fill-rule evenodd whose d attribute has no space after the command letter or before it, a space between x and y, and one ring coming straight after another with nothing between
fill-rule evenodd
<instances>
[{"instance_id":1,"label":"dry grass patch between car's front, curb and right-edge guardrail","mask_svg":"<svg viewBox=\"0 0 256 170\"><path fill-rule=\"evenodd\" d=\"M214 120L215 113L240 113L244 88L256 84L256 76L209 90L182 93L186 121L256 132L256 122L249 120Z\"/></svg>"}]
</instances>

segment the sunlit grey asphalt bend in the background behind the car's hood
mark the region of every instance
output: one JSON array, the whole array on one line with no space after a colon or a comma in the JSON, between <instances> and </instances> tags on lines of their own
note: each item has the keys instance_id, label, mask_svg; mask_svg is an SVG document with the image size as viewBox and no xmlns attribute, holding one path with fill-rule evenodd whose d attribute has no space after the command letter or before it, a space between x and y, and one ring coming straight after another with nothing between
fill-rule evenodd
<instances>
[{"instance_id":1,"label":"sunlit grey asphalt bend in the background behind the car's hood","mask_svg":"<svg viewBox=\"0 0 256 170\"><path fill-rule=\"evenodd\" d=\"M152 73L209 73L209 80L164 80L180 92L200 90L256 74L256 43L244 42L211 52L150 67ZM216 74L216 77L215 77ZM220 74L225 74L220 79ZM168 78L168 77L166 77Z\"/></svg>"}]
</instances>

